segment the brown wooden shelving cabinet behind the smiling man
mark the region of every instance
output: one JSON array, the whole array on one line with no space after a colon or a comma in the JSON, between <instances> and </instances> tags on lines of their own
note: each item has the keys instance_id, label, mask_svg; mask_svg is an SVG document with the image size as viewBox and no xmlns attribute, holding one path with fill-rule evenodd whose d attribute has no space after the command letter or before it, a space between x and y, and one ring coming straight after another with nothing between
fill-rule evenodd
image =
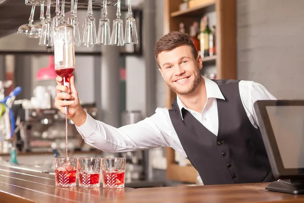
<instances>
[{"instance_id":1,"label":"brown wooden shelving cabinet behind the smiling man","mask_svg":"<svg viewBox=\"0 0 304 203\"><path fill-rule=\"evenodd\" d=\"M179 24L185 25L189 33L189 26L207 13L215 13L216 26L216 55L203 58L205 65L214 63L216 79L236 79L236 0L189 0L188 8L179 10L183 0L165 0L164 35L170 31L178 31ZM191 7L191 8L189 8ZM166 86L166 107L176 97ZM193 166L179 166L174 159L174 150L167 148L167 179L186 183L195 183L197 171Z\"/></svg>"}]
</instances>

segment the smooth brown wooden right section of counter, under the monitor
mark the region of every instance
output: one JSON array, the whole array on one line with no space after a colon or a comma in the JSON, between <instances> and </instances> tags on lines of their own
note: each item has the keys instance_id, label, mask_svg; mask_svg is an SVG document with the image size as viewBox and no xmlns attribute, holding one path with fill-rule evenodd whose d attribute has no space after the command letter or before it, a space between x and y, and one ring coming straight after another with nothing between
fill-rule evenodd
<instances>
[{"instance_id":1,"label":"smooth brown wooden right section of counter, under the monitor","mask_svg":"<svg viewBox=\"0 0 304 203\"><path fill-rule=\"evenodd\" d=\"M304 201L304 195L271 192L265 190L265 186L267 186L267 183L168 188L139 188L128 192L123 198L118 197L116 199L112 199L112 202L289 203Z\"/></svg>"}]
</instances>

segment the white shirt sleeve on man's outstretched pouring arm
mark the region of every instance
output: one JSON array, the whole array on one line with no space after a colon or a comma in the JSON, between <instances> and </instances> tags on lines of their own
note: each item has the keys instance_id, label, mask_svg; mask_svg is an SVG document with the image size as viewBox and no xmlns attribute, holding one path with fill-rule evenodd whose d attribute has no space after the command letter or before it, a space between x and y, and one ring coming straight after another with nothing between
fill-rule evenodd
<instances>
[{"instance_id":1,"label":"white shirt sleeve on man's outstretched pouring arm","mask_svg":"<svg viewBox=\"0 0 304 203\"><path fill-rule=\"evenodd\" d=\"M170 147L171 132L165 109L136 124L116 128L87 114L86 122L77 127L85 142L105 152L125 152L156 147Z\"/></svg>"}]
</instances>

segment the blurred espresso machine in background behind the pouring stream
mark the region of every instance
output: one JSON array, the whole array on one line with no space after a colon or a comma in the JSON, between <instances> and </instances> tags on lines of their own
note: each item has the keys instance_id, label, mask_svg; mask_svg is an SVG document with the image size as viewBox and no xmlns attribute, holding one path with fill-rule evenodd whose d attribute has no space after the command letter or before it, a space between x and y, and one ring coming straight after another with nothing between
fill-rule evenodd
<instances>
[{"instance_id":1,"label":"blurred espresso machine in background behind the pouring stream","mask_svg":"<svg viewBox=\"0 0 304 203\"><path fill-rule=\"evenodd\" d=\"M82 105L93 118L97 117L95 104ZM66 128L65 115L56 108L26 109L22 105L15 106L16 123L20 129L16 134L17 147L23 152L52 152L53 149L65 151ZM68 150L90 150L84 143L74 123L68 119Z\"/></svg>"}]
</instances>

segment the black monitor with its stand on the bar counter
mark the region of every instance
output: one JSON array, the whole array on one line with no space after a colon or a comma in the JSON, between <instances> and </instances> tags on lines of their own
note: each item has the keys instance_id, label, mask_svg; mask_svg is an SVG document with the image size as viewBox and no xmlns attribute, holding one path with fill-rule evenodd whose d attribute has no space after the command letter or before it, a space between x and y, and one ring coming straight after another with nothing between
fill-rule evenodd
<instances>
[{"instance_id":1,"label":"black monitor with its stand on the bar counter","mask_svg":"<svg viewBox=\"0 0 304 203\"><path fill-rule=\"evenodd\" d=\"M304 100L258 100L262 139L278 181L270 191L304 194Z\"/></svg>"}]
</instances>

